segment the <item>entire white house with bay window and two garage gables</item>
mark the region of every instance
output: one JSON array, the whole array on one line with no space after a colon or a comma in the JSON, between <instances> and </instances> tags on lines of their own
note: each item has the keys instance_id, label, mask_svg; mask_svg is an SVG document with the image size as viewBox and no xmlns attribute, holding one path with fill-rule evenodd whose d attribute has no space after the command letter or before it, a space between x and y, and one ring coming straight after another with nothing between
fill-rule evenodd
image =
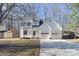
<instances>
[{"instance_id":1,"label":"entire white house with bay window and two garage gables","mask_svg":"<svg viewBox=\"0 0 79 59\"><path fill-rule=\"evenodd\" d=\"M33 21L26 18L20 23L21 38L58 39L62 38L62 28L56 21Z\"/></svg>"}]
</instances>

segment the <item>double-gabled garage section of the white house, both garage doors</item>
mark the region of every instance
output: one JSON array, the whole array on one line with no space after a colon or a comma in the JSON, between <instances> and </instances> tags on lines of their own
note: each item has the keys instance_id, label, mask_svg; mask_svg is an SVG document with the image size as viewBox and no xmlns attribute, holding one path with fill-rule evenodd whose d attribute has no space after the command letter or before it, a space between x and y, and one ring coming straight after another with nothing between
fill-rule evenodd
<instances>
[{"instance_id":1,"label":"double-gabled garage section of the white house, both garage doors","mask_svg":"<svg viewBox=\"0 0 79 59\"><path fill-rule=\"evenodd\" d=\"M46 21L40 27L41 38L47 39L58 39L62 38L62 27L52 20L51 22Z\"/></svg>"}]
</instances>

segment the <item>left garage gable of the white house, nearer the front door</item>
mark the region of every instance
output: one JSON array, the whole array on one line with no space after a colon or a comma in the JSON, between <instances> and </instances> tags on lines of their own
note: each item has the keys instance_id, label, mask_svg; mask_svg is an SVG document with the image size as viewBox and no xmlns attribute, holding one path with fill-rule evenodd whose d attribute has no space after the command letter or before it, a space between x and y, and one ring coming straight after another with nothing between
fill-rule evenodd
<instances>
[{"instance_id":1,"label":"left garage gable of the white house, nearer the front door","mask_svg":"<svg viewBox=\"0 0 79 59\"><path fill-rule=\"evenodd\" d=\"M45 38L47 38L47 39L49 39L49 38L51 38L51 30L52 30L52 28L50 27L50 25L47 23L47 22L45 22L45 23L43 23L40 27L39 27L39 30L40 30L40 34L41 34L41 39L45 39Z\"/></svg>"}]
</instances>

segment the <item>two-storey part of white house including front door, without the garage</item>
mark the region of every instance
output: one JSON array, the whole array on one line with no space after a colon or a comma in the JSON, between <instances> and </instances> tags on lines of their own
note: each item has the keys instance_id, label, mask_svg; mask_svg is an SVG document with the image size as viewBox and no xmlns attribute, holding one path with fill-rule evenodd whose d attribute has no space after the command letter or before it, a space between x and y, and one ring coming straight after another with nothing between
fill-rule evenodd
<instances>
[{"instance_id":1,"label":"two-storey part of white house including front door, without the garage","mask_svg":"<svg viewBox=\"0 0 79 59\"><path fill-rule=\"evenodd\" d=\"M26 21L20 22L20 37L21 38L39 38L39 24L38 21L33 21L27 17Z\"/></svg>"}]
</instances>

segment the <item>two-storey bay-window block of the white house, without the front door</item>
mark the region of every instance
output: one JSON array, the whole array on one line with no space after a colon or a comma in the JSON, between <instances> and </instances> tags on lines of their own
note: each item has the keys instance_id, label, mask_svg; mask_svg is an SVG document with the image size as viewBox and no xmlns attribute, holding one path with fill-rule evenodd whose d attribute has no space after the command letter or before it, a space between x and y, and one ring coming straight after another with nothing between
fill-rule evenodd
<instances>
[{"instance_id":1,"label":"two-storey bay-window block of the white house, without the front door","mask_svg":"<svg viewBox=\"0 0 79 59\"><path fill-rule=\"evenodd\" d=\"M26 18L26 21L21 21L20 23L20 37L21 38L31 38L32 37L32 25L33 20Z\"/></svg>"}]
</instances>

